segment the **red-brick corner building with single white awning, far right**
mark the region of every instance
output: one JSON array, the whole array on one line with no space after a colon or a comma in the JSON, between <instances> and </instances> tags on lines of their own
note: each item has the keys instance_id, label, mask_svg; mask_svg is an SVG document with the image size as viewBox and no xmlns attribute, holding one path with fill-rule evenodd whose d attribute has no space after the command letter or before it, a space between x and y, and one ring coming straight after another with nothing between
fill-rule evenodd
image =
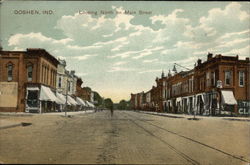
<instances>
[{"instance_id":1,"label":"red-brick corner building with single white awning, far right","mask_svg":"<svg viewBox=\"0 0 250 165\"><path fill-rule=\"evenodd\" d=\"M197 113L233 112L249 114L250 62L249 58L222 56L209 53L207 61L198 60L194 68L194 88Z\"/></svg>"}]
</instances>

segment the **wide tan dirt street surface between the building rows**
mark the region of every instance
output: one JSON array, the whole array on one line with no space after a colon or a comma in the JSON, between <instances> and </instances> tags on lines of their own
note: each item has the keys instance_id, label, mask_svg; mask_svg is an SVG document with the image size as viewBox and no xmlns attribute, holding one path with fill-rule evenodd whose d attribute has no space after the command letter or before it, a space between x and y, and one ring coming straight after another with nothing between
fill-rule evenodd
<instances>
[{"instance_id":1,"label":"wide tan dirt street surface between the building rows","mask_svg":"<svg viewBox=\"0 0 250 165\"><path fill-rule=\"evenodd\" d=\"M190 116L191 117L191 116ZM0 130L2 163L225 164L250 160L250 122L133 111L0 116L32 123Z\"/></svg>"}]
</instances>

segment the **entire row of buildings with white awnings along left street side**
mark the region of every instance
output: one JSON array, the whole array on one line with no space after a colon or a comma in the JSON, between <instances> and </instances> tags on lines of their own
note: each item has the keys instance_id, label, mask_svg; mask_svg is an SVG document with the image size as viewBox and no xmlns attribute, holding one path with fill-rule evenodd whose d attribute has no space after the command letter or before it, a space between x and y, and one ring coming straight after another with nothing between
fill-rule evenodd
<instances>
[{"instance_id":1,"label":"entire row of buildings with white awnings along left street side","mask_svg":"<svg viewBox=\"0 0 250 165\"><path fill-rule=\"evenodd\" d=\"M0 111L45 113L94 109L93 98L81 95L86 93L81 78L65 67L65 60L56 59L44 49L1 51Z\"/></svg>"}]
</instances>

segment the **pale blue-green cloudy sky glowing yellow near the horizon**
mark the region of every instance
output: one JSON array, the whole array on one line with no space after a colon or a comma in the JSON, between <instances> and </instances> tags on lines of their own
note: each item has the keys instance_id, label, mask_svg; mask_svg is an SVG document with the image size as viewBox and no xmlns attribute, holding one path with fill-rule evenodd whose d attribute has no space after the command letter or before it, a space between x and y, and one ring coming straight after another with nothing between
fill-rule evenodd
<instances>
[{"instance_id":1,"label":"pale blue-green cloudy sky glowing yellow near the horizon","mask_svg":"<svg viewBox=\"0 0 250 165\"><path fill-rule=\"evenodd\" d=\"M84 86L118 102L149 90L174 63L192 68L207 52L248 57L249 11L249 2L4 1L1 45L45 48L66 59Z\"/></svg>"}]
</instances>

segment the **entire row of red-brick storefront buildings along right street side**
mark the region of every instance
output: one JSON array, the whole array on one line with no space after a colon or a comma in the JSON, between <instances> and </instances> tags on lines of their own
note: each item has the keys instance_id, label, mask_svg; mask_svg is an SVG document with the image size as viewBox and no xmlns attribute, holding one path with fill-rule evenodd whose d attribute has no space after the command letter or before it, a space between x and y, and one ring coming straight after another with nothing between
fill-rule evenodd
<instances>
[{"instance_id":1,"label":"entire row of red-brick storefront buildings along right street side","mask_svg":"<svg viewBox=\"0 0 250 165\"><path fill-rule=\"evenodd\" d=\"M197 115L249 115L249 58L209 53L188 71L162 73L156 86L131 94L135 110Z\"/></svg>"}]
</instances>

